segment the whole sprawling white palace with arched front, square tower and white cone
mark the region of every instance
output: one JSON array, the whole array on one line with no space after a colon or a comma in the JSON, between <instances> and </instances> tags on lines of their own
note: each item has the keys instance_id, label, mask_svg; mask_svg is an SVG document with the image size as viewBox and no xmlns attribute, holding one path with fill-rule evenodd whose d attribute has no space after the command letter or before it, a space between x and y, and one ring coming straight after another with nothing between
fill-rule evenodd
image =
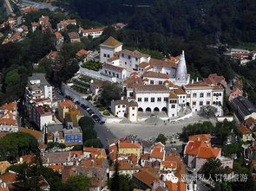
<instances>
[{"instance_id":1,"label":"whole sprawling white palace with arched front, square tower and white cone","mask_svg":"<svg viewBox=\"0 0 256 191\"><path fill-rule=\"evenodd\" d=\"M182 112L200 111L203 105L223 113L224 89L217 84L190 82L185 53L166 60L148 54L122 49L122 43L109 37L100 45L102 74L123 80L126 97L111 103L111 111L118 118L138 120L139 111L166 111L168 118Z\"/></svg>"}]
</instances>

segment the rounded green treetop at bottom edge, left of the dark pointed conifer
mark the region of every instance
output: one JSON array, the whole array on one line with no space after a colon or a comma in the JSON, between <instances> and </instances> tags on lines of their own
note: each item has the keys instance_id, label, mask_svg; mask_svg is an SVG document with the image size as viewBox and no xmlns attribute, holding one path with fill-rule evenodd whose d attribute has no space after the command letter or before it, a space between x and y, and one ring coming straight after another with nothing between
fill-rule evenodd
<instances>
[{"instance_id":1,"label":"rounded green treetop at bottom edge, left of the dark pointed conifer","mask_svg":"<svg viewBox=\"0 0 256 191\"><path fill-rule=\"evenodd\" d=\"M72 175L66 181L65 186L70 191L85 191L89 190L90 179L85 175Z\"/></svg>"}]
</instances>

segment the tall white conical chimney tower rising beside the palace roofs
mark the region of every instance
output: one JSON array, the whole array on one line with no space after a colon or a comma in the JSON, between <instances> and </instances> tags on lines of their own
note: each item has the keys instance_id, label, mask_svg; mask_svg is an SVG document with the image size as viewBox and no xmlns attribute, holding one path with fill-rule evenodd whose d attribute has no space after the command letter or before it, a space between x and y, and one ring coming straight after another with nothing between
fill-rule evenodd
<instances>
[{"instance_id":1,"label":"tall white conical chimney tower rising beside the palace roofs","mask_svg":"<svg viewBox=\"0 0 256 191\"><path fill-rule=\"evenodd\" d=\"M177 86L187 85L189 83L189 74L187 73L187 65L184 50L180 56L180 61L176 70L175 82Z\"/></svg>"}]
</instances>

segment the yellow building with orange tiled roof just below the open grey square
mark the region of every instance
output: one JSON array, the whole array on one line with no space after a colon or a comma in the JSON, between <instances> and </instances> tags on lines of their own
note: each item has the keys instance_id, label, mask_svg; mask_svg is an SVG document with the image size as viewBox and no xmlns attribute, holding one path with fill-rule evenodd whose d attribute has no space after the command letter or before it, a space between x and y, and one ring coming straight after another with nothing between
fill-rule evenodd
<instances>
[{"instance_id":1,"label":"yellow building with orange tiled roof just below the open grey square","mask_svg":"<svg viewBox=\"0 0 256 191\"><path fill-rule=\"evenodd\" d=\"M141 144L139 143L118 143L118 154L135 154L141 158Z\"/></svg>"}]
</instances>

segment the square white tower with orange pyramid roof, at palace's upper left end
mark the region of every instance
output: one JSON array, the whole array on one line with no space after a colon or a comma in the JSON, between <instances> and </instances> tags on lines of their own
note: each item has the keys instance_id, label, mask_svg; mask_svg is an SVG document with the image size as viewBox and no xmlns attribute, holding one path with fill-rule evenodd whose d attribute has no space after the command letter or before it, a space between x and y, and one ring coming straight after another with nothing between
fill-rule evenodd
<instances>
[{"instance_id":1,"label":"square white tower with orange pyramid roof, at palace's upper left end","mask_svg":"<svg viewBox=\"0 0 256 191\"><path fill-rule=\"evenodd\" d=\"M100 45L100 61L107 63L107 60L114 57L115 53L122 50L122 43L110 36Z\"/></svg>"}]
</instances>

